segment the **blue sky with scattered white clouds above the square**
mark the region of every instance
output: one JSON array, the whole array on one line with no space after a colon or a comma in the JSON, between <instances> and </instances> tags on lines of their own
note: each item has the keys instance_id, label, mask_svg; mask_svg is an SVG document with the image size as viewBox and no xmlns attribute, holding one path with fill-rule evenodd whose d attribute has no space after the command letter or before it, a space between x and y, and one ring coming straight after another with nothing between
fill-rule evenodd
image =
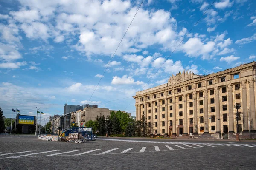
<instances>
[{"instance_id":1,"label":"blue sky with scattered white clouds above the square","mask_svg":"<svg viewBox=\"0 0 256 170\"><path fill-rule=\"evenodd\" d=\"M141 2L0 0L4 116L12 108L36 115L38 107L45 119L63 114L66 102L134 116L132 96L172 74L207 75L256 58L255 0L210 8L213 0L144 0L131 23Z\"/></svg>"}]
</instances>

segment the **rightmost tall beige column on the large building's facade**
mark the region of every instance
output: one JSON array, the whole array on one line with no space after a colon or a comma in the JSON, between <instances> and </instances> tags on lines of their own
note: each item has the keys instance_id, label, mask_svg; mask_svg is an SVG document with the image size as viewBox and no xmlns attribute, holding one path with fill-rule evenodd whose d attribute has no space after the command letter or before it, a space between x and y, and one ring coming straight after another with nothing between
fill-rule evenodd
<instances>
[{"instance_id":1,"label":"rightmost tall beige column on the large building's facade","mask_svg":"<svg viewBox=\"0 0 256 170\"><path fill-rule=\"evenodd\" d=\"M250 92L250 111L249 118L251 122L251 132L256 130L256 122L255 122L255 98L254 98L254 82L255 79L249 79L249 92Z\"/></svg>"}]
</instances>

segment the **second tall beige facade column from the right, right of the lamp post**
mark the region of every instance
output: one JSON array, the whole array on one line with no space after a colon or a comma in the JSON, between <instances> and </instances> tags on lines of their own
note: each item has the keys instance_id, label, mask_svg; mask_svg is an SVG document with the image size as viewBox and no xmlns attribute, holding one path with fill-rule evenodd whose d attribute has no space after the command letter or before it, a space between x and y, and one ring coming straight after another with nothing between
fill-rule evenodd
<instances>
[{"instance_id":1,"label":"second tall beige facade column from the right, right of the lamp post","mask_svg":"<svg viewBox=\"0 0 256 170\"><path fill-rule=\"evenodd\" d=\"M247 111L247 94L246 94L246 80L241 81L242 85L242 107L243 107L243 119L244 130L243 132L249 132L248 128L248 111ZM254 103L255 105L255 103Z\"/></svg>"}]
</instances>

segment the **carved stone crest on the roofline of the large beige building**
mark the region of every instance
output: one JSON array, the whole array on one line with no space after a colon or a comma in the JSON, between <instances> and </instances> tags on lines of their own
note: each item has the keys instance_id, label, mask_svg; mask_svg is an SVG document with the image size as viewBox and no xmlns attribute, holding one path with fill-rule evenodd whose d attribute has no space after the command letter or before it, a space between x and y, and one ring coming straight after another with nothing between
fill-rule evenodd
<instances>
[{"instance_id":1,"label":"carved stone crest on the roofline of the large beige building","mask_svg":"<svg viewBox=\"0 0 256 170\"><path fill-rule=\"evenodd\" d=\"M170 76L169 80L168 80L168 85L174 85L174 84L177 84L177 83L180 83L180 82L185 82L187 80L190 80L190 79L194 79L194 78L197 78L197 77L200 77L198 75L194 75L194 73L191 71L186 71L183 70L182 73L178 73L175 75L172 74L172 77Z\"/></svg>"}]
</instances>

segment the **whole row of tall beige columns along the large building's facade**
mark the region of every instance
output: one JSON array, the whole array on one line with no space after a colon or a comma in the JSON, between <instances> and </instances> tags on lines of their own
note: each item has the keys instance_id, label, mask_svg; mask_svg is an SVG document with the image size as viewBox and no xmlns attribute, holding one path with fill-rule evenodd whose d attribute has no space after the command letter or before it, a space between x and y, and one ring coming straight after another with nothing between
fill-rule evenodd
<instances>
[{"instance_id":1,"label":"whole row of tall beige columns along the large building's facade","mask_svg":"<svg viewBox=\"0 0 256 170\"><path fill-rule=\"evenodd\" d=\"M248 117L251 117L252 122L252 130L256 130L256 113L255 113L255 97L254 97L254 79L249 79L249 94L250 94L250 114L248 113L247 110L247 80L241 81L241 87L242 87L242 111L243 111L243 122L244 122L244 132L247 132L249 130L248 128ZM234 112L233 112L233 85L230 83L227 85L227 95L228 95L228 115L229 115L229 125L228 129L230 133L234 132ZM197 119L197 92L193 91L193 133L198 133L198 119ZM208 127L208 90L204 89L203 90L204 94L204 133L209 133L209 127ZM216 133L221 132L221 126L220 126L220 88L218 86L214 87L214 94L215 94L215 118L216 118ZM172 122L172 130L173 134L176 134L176 97L173 98L172 100L172 116L173 116L173 122ZM165 98L165 133L169 133L168 130L168 105L167 102L168 100ZM188 122L187 122L187 94L183 94L183 101L184 101L184 123L183 123L183 134L188 134ZM139 105L136 106L136 120L140 120L142 113L141 113L141 108L138 107ZM147 104L145 103L145 115L147 115ZM150 102L150 110L151 110L151 125L153 125L153 102ZM160 132L160 100L157 100L157 133Z\"/></svg>"}]
</instances>

